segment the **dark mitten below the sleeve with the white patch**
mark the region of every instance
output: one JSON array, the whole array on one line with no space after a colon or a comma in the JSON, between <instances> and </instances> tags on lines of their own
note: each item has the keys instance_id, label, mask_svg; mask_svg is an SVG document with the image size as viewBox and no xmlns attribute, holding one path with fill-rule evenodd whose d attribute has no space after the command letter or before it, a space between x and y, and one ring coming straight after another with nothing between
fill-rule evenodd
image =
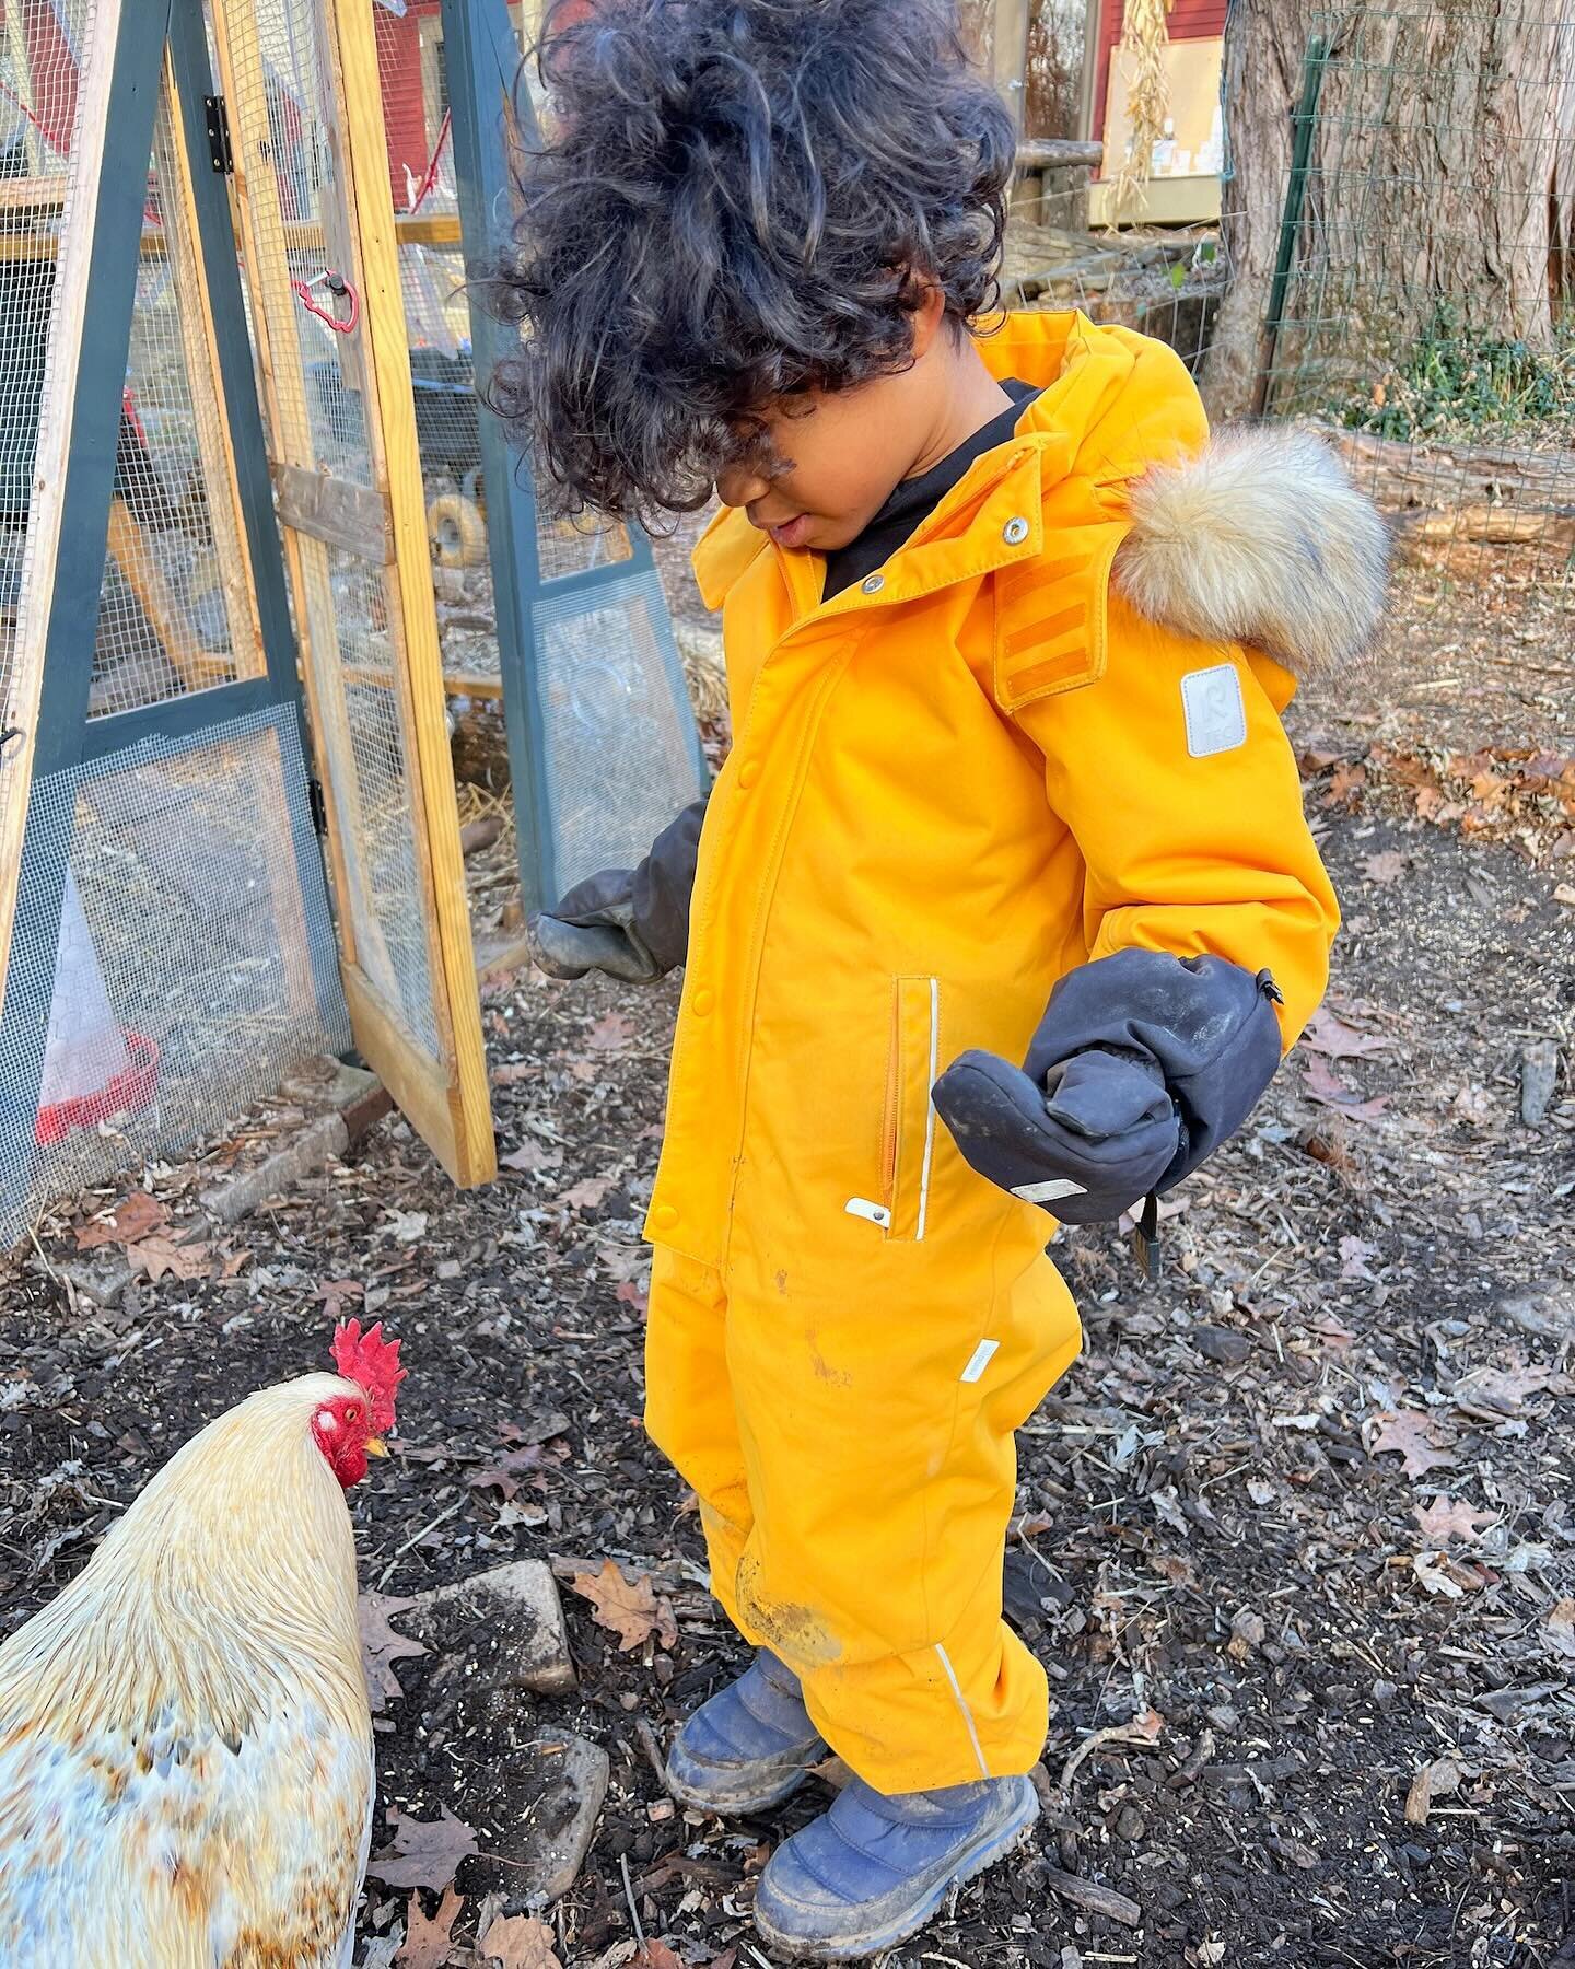
<instances>
[{"instance_id":1,"label":"dark mitten below the sleeve with the white patch","mask_svg":"<svg viewBox=\"0 0 1575 1969\"><path fill-rule=\"evenodd\" d=\"M1278 998L1223 957L1116 951L1061 979L1022 1069L963 1053L935 1111L988 1181L1104 1223L1246 1120L1280 1063Z\"/></svg>"}]
</instances>

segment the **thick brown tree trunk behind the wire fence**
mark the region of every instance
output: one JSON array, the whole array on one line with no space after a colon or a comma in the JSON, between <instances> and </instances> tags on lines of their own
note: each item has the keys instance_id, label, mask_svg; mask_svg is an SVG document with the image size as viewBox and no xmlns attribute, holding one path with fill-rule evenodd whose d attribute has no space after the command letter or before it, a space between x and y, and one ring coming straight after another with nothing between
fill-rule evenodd
<instances>
[{"instance_id":1,"label":"thick brown tree trunk behind the wire fence","mask_svg":"<svg viewBox=\"0 0 1575 1969\"><path fill-rule=\"evenodd\" d=\"M1278 335L1264 329L1303 53L1331 39ZM1498 0L1319 12L1236 0L1225 57L1232 289L1205 394L1217 415L1362 402L1418 341L1549 347L1571 193L1571 30Z\"/></svg>"}]
</instances>

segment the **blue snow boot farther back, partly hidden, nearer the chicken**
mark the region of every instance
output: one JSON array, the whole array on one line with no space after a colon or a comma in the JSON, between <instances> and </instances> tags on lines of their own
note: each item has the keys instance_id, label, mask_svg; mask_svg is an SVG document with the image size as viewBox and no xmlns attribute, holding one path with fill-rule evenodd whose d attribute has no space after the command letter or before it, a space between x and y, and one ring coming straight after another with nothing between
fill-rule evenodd
<instances>
[{"instance_id":1,"label":"blue snow boot farther back, partly hidden, nearer the chicken","mask_svg":"<svg viewBox=\"0 0 1575 1969\"><path fill-rule=\"evenodd\" d=\"M770 1811L825 1756L799 1678L762 1648L746 1674L689 1717L667 1752L667 1790L701 1811Z\"/></svg>"}]
</instances>

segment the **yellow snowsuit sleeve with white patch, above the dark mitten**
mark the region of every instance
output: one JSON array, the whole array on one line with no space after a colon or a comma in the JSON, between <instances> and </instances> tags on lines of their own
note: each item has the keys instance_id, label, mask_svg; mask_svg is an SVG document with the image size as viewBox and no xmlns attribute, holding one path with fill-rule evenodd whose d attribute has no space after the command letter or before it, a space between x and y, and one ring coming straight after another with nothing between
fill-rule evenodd
<instances>
[{"instance_id":1,"label":"yellow snowsuit sleeve with white patch, above the dark mitten","mask_svg":"<svg viewBox=\"0 0 1575 1969\"><path fill-rule=\"evenodd\" d=\"M1339 927L1280 725L1290 679L1144 620L1114 587L1104 601L1101 673L1014 713L1083 855L1089 959L1138 945L1268 969L1290 1046Z\"/></svg>"}]
</instances>

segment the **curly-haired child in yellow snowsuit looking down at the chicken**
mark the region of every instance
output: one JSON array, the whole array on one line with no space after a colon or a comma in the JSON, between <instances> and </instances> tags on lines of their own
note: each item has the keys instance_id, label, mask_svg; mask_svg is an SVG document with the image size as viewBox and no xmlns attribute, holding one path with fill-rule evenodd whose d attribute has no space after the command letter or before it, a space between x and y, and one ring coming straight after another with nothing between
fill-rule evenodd
<instances>
[{"instance_id":1,"label":"curly-haired child in yellow snowsuit looking down at the chicken","mask_svg":"<svg viewBox=\"0 0 1575 1969\"><path fill-rule=\"evenodd\" d=\"M648 1426L754 1666L691 1806L854 1772L764 1936L874 1955L1036 1817L1002 1624L1012 1431L1114 1221L1262 1093L1335 898L1280 729L1372 630L1376 516L1309 439L1207 449L1181 362L990 323L1012 128L943 0L600 0L547 47L500 408L569 502L724 512L734 744L541 965L683 963Z\"/></svg>"}]
</instances>

